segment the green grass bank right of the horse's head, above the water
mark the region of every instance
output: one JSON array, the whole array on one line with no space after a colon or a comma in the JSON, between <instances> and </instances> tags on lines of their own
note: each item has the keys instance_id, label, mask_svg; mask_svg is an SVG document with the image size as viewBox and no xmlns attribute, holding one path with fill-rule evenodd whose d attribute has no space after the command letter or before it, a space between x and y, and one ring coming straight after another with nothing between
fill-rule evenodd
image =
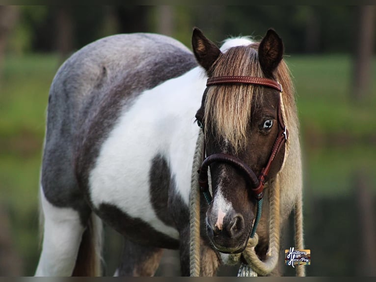
<instances>
[{"instance_id":1,"label":"green grass bank right of the horse's head, above the water","mask_svg":"<svg viewBox=\"0 0 376 282\"><path fill-rule=\"evenodd\" d=\"M343 137L356 141L375 139L376 59L369 97L351 97L349 56L297 56L289 58L295 78L297 106L303 134ZM307 133L308 134L308 133ZM309 135L311 136L311 135Z\"/></svg>"}]
</instances>

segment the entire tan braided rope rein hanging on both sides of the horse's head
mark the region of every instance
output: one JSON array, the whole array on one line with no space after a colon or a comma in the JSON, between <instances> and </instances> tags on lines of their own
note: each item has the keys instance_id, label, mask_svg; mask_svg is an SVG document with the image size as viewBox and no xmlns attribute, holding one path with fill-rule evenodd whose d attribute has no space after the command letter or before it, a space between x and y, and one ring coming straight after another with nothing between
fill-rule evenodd
<instances>
[{"instance_id":1,"label":"entire tan braided rope rein hanging on both sides of the horse's head","mask_svg":"<svg viewBox=\"0 0 376 282\"><path fill-rule=\"evenodd\" d=\"M200 187L198 184L197 171L201 167L202 150L203 150L204 135L200 130L196 142L196 148L193 157L192 174L191 174L191 191L189 196L189 222L190 222L190 276L200 276ZM257 233L253 238L250 238L247 247L242 253L247 264L241 264L238 276L258 276L268 275L276 266L279 253L279 174L277 174L274 189L269 190L269 250L267 253L267 260L261 261L255 252L255 246L258 243ZM298 250L303 250L303 214L302 214L302 195L299 192L297 201L295 203L295 246ZM272 255L276 254L276 255ZM234 255L234 256L239 256ZM236 259L234 257L234 259ZM296 266L296 276L305 276L305 268L303 265Z\"/></svg>"}]
</instances>

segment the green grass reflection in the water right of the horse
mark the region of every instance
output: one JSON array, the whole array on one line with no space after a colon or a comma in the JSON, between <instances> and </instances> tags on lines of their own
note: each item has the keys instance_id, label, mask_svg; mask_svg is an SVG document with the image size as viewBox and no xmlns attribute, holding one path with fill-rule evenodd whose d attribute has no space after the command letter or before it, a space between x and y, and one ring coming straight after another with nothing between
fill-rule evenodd
<instances>
[{"instance_id":1,"label":"green grass reflection in the water right of the horse","mask_svg":"<svg viewBox=\"0 0 376 282\"><path fill-rule=\"evenodd\" d=\"M304 189L318 198L348 197L357 189L356 177L367 177L368 189L376 195L376 149L373 146L305 149Z\"/></svg>"}]
</instances>

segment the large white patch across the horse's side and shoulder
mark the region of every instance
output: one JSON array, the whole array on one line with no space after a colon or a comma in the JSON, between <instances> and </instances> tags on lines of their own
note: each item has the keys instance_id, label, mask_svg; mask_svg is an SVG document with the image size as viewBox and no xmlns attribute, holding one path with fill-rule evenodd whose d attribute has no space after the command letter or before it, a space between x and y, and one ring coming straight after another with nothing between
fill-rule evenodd
<instances>
[{"instance_id":1,"label":"large white patch across the horse's side and shoulder","mask_svg":"<svg viewBox=\"0 0 376 282\"><path fill-rule=\"evenodd\" d=\"M125 109L103 143L89 175L91 200L117 206L127 215L178 238L178 231L156 215L149 194L153 158L166 158L177 191L189 202L190 178L199 127L194 116L200 108L206 80L201 68L144 91Z\"/></svg>"}]
</instances>

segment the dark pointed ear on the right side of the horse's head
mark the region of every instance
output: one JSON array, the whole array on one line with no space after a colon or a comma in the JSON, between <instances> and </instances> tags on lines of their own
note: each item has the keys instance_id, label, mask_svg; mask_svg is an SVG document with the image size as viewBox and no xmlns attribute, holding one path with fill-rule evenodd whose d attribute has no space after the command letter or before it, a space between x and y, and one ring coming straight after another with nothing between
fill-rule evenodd
<instances>
[{"instance_id":1,"label":"dark pointed ear on the right side of the horse's head","mask_svg":"<svg viewBox=\"0 0 376 282\"><path fill-rule=\"evenodd\" d=\"M259 61L264 74L272 77L283 56L282 39L273 30L269 29L259 46Z\"/></svg>"}]
</instances>

